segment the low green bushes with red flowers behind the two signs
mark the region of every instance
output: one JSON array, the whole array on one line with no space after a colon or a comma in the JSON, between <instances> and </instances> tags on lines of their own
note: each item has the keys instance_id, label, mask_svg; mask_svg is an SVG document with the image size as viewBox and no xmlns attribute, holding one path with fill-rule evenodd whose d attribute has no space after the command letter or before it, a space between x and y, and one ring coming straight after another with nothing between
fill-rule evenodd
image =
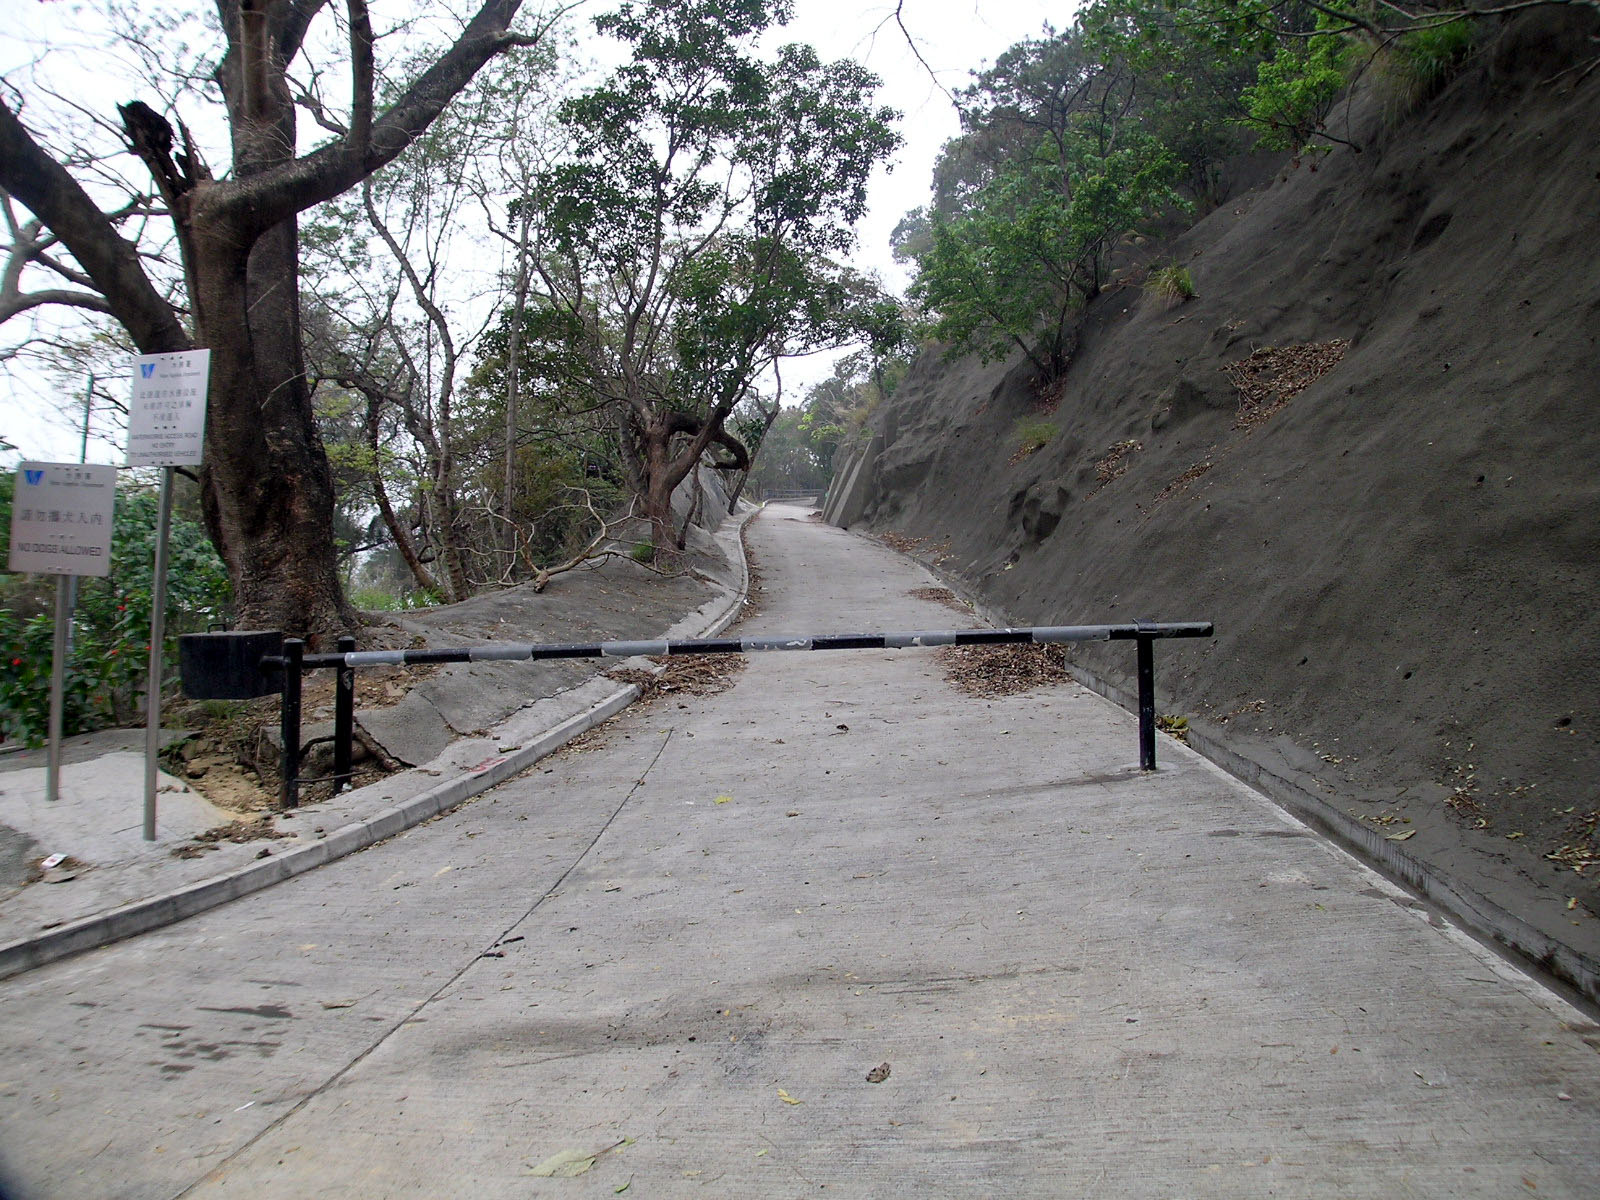
<instances>
[{"instance_id":1,"label":"low green bushes with red flowers behind the two signs","mask_svg":"<svg viewBox=\"0 0 1600 1200\"><path fill-rule=\"evenodd\" d=\"M0 475L0 528L10 528L14 475ZM64 731L90 733L136 717L149 669L150 600L155 574L152 488L118 488L110 576L80 579L66 666ZM227 571L205 530L181 515L168 534L165 662L176 667L178 634L205 629L227 613ZM0 584L0 736L43 744L50 718L54 642L53 584L13 576Z\"/></svg>"}]
</instances>

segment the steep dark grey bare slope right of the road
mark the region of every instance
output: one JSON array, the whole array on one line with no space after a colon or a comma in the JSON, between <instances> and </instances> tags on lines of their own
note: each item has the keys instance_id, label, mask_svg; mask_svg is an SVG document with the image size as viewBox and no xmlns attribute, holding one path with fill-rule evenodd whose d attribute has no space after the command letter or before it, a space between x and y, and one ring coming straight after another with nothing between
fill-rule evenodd
<instances>
[{"instance_id":1,"label":"steep dark grey bare slope right of the road","mask_svg":"<svg viewBox=\"0 0 1600 1200\"><path fill-rule=\"evenodd\" d=\"M829 507L1011 622L1214 621L1158 648L1163 714L1592 997L1597 30L1512 24L1410 112L1358 91L1358 150L1130 246L1059 384L928 350ZM1192 299L1141 286L1166 262Z\"/></svg>"}]
</instances>

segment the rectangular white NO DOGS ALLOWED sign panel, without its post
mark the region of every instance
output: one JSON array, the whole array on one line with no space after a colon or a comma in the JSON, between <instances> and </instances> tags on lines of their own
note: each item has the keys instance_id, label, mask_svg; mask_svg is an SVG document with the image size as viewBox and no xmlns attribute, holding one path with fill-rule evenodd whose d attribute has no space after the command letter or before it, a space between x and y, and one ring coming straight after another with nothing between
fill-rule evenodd
<instances>
[{"instance_id":1,"label":"rectangular white NO DOGS ALLOWED sign panel, without its post","mask_svg":"<svg viewBox=\"0 0 1600 1200\"><path fill-rule=\"evenodd\" d=\"M24 462L11 494L13 571L110 574L117 467Z\"/></svg>"}]
</instances>

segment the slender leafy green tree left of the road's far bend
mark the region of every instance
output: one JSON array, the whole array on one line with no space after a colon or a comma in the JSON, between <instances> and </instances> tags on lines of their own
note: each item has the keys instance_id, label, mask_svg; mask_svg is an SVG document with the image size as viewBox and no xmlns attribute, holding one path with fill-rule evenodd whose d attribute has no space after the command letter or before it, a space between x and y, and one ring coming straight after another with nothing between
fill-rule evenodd
<instances>
[{"instance_id":1,"label":"slender leafy green tree left of the road's far bend","mask_svg":"<svg viewBox=\"0 0 1600 1200\"><path fill-rule=\"evenodd\" d=\"M579 349L579 384L614 406L656 554L674 488L781 357L883 338L899 309L834 261L872 168L896 146L877 80L810 46L755 40L787 0L624 3L595 26L632 59L562 109L574 152L541 178L536 304Z\"/></svg>"}]
</instances>

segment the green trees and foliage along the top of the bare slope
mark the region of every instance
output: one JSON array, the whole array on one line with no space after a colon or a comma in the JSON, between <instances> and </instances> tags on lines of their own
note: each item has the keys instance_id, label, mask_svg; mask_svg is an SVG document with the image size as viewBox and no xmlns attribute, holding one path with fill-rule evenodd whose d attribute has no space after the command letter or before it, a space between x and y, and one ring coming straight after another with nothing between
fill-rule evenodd
<instances>
[{"instance_id":1,"label":"green trees and foliage along the top of the bare slope","mask_svg":"<svg viewBox=\"0 0 1600 1200\"><path fill-rule=\"evenodd\" d=\"M1011 46L960 96L933 205L893 235L917 261L931 334L990 362L1021 349L1059 376L1075 310L1128 234L1218 203L1222 163L1253 144L1338 141L1328 114L1384 18L1405 19L1301 0L1093 0L1072 29ZM1453 38L1429 30L1418 61L1448 62ZM1194 280L1170 269L1152 288L1176 301Z\"/></svg>"}]
</instances>

